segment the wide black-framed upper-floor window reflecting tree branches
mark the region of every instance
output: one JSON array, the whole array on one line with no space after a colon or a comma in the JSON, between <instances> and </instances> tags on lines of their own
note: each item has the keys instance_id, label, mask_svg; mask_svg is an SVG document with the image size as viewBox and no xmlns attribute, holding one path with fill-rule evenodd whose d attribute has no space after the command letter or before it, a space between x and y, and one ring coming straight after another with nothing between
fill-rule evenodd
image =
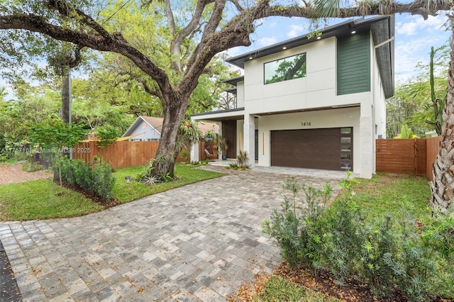
<instances>
[{"instance_id":1,"label":"wide black-framed upper-floor window reflecting tree branches","mask_svg":"<svg viewBox=\"0 0 454 302\"><path fill-rule=\"evenodd\" d=\"M265 84L306 77L306 53L265 63Z\"/></svg>"}]
</instances>

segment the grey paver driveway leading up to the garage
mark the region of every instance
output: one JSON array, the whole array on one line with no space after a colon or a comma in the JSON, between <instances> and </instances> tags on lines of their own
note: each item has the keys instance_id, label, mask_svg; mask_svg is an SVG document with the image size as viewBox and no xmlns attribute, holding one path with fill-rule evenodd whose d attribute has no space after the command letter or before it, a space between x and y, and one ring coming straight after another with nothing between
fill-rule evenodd
<instances>
[{"instance_id":1,"label":"grey paver driveway leading up to the garage","mask_svg":"<svg viewBox=\"0 0 454 302\"><path fill-rule=\"evenodd\" d=\"M288 194L279 171L229 172L79 218L0 223L23 301L226 301L281 261L261 228ZM345 176L321 173L294 175L335 187Z\"/></svg>"}]
</instances>

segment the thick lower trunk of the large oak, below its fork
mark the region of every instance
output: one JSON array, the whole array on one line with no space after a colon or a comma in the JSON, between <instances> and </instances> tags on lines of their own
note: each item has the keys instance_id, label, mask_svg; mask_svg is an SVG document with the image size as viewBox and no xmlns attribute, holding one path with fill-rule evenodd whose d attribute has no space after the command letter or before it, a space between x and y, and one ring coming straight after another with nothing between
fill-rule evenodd
<instances>
[{"instance_id":1,"label":"thick lower trunk of the large oak, below its fork","mask_svg":"<svg viewBox=\"0 0 454 302\"><path fill-rule=\"evenodd\" d=\"M174 177L175 160L177 159L177 134L179 125L184 118L189 98L174 96L175 99L167 100L164 108L164 121L162 122L162 132L157 147L156 157L153 162L153 176L162 177L169 175Z\"/></svg>"}]
</instances>

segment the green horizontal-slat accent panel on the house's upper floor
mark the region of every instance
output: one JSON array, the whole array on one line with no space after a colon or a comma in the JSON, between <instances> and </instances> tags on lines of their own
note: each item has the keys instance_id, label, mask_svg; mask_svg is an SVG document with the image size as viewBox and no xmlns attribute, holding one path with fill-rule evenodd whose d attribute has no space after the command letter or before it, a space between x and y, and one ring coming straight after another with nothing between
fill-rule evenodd
<instances>
[{"instance_id":1,"label":"green horizontal-slat accent panel on the house's upper floor","mask_svg":"<svg viewBox=\"0 0 454 302\"><path fill-rule=\"evenodd\" d=\"M338 95L370 91L370 35L338 40Z\"/></svg>"}]
</instances>

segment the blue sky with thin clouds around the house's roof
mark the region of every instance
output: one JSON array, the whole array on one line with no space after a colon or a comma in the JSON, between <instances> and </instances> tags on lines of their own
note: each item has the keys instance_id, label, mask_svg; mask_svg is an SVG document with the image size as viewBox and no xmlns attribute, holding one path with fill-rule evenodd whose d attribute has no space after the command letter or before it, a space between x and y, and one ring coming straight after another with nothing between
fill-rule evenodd
<instances>
[{"instance_id":1,"label":"blue sky with thin clouds around the house's roof","mask_svg":"<svg viewBox=\"0 0 454 302\"><path fill-rule=\"evenodd\" d=\"M448 45L450 31L446 31L444 26L447 20L443 13L436 17L429 16L426 21L421 16L411 16L409 13L396 15L394 40L396 85L420 73L416 68L418 62L428 65L431 46L437 48ZM331 20L329 25L341 21ZM236 47L228 50L228 55L241 55L308 32L309 23L303 18L269 18L258 23L256 32L251 35L253 44L250 47Z\"/></svg>"}]
</instances>

